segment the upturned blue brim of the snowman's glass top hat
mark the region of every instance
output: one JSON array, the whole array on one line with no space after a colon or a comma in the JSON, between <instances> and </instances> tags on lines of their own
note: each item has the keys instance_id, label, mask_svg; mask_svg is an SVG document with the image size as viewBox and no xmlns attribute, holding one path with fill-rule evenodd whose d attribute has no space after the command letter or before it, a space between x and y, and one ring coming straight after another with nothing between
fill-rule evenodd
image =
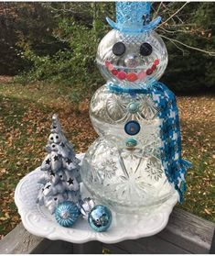
<instances>
[{"instance_id":1,"label":"upturned blue brim of the snowman's glass top hat","mask_svg":"<svg viewBox=\"0 0 215 256\"><path fill-rule=\"evenodd\" d=\"M115 23L112 19L109 17L106 17L107 23L114 29L119 30L121 32L129 32L129 33L141 33L149 31L153 28L156 28L156 26L161 22L161 17L156 17L154 20L152 20L149 24L143 26L142 28L126 28L124 24L118 24Z\"/></svg>"}]
</instances>

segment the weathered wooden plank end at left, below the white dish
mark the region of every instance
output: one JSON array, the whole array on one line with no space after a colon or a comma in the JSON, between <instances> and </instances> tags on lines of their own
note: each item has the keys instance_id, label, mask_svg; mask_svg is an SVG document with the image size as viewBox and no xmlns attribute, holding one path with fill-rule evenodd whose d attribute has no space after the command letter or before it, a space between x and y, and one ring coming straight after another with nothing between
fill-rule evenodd
<instances>
[{"instance_id":1,"label":"weathered wooden plank end at left, below the white dish","mask_svg":"<svg viewBox=\"0 0 215 256\"><path fill-rule=\"evenodd\" d=\"M31 253L42 240L29 234L20 223L0 241L0 254Z\"/></svg>"}]
</instances>

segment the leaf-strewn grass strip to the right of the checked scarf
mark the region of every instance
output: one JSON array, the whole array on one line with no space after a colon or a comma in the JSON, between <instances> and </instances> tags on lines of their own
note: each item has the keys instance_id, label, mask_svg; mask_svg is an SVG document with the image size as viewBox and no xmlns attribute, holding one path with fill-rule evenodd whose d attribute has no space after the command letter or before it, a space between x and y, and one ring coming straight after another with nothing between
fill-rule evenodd
<instances>
[{"instance_id":1,"label":"leaf-strewn grass strip to the right of the checked scarf","mask_svg":"<svg viewBox=\"0 0 215 256\"><path fill-rule=\"evenodd\" d=\"M180 97L183 155L193 163L188 191L181 206L215 221L215 100L214 96Z\"/></svg>"}]
</instances>

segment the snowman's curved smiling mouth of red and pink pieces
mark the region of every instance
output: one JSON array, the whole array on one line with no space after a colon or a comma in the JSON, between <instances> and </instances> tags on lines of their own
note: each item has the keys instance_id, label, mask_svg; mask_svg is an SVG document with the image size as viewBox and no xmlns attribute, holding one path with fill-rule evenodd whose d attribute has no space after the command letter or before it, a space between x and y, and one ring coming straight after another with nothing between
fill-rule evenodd
<instances>
[{"instance_id":1,"label":"snowman's curved smiling mouth of red and pink pieces","mask_svg":"<svg viewBox=\"0 0 215 256\"><path fill-rule=\"evenodd\" d=\"M105 61L105 67L109 70L109 72L112 72L114 76L116 76L120 80L127 80L129 82L135 82L137 80L144 80L147 75L151 75L155 70L156 67L159 64L159 60L156 59L151 68L148 68L146 71L141 71L141 72L124 72L124 71L119 71L114 68L113 64L111 61Z\"/></svg>"}]
</instances>

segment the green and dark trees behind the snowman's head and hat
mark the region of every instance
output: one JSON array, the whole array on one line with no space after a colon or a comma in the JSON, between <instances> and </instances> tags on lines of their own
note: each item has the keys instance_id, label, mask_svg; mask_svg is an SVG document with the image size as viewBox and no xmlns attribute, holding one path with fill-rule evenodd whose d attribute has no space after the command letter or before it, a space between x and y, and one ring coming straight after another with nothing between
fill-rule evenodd
<instances>
[{"instance_id":1,"label":"green and dark trees behind the snowman's head and hat","mask_svg":"<svg viewBox=\"0 0 215 256\"><path fill-rule=\"evenodd\" d=\"M161 16L156 31L167 44L169 63L161 81L175 93L215 87L215 3L153 3ZM99 41L111 29L113 2L0 3L0 75L19 83L44 81L72 88L80 101L102 83L95 64Z\"/></svg>"}]
</instances>

